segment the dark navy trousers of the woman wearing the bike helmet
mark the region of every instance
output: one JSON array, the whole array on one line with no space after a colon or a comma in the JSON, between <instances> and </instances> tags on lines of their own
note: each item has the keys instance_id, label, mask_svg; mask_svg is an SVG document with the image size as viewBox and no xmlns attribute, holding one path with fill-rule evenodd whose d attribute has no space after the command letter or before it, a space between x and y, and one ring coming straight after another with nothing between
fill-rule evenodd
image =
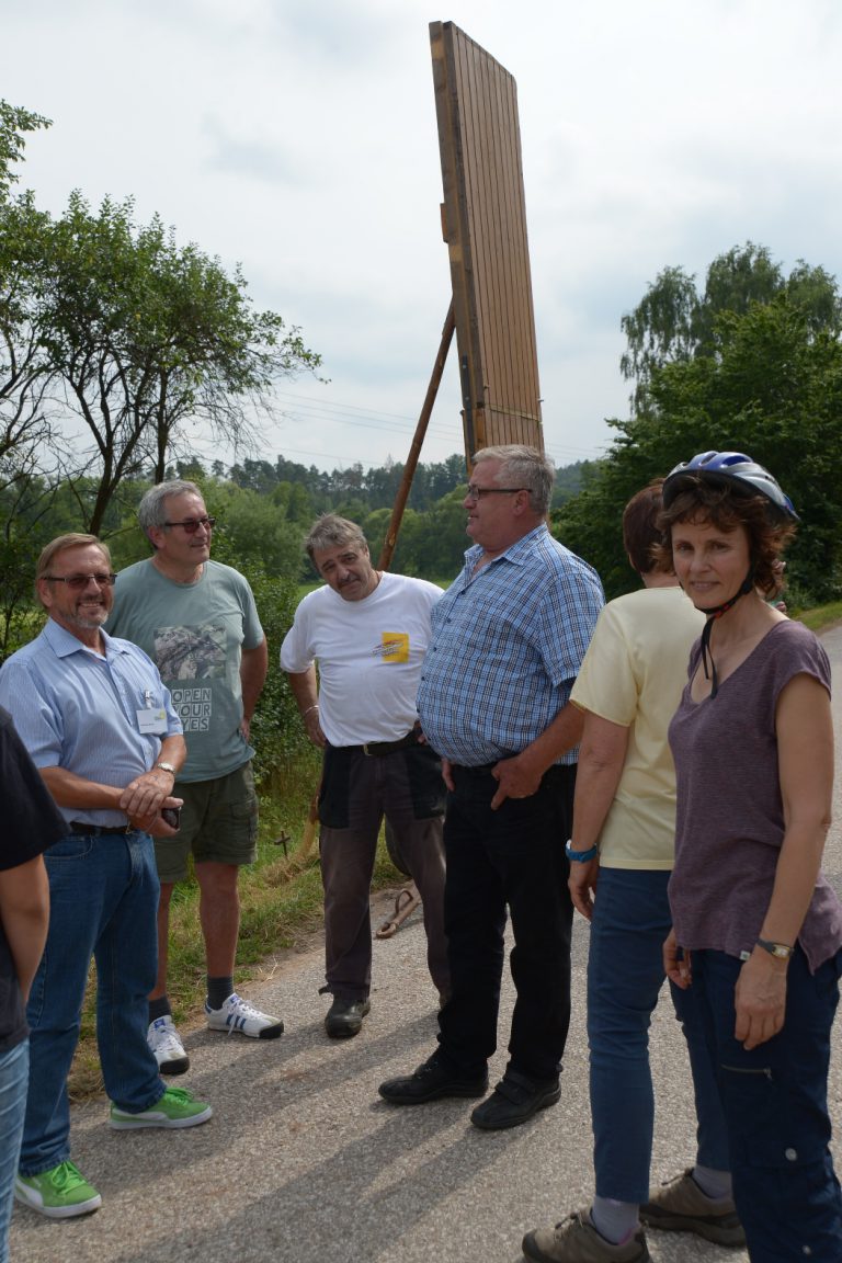
<instances>
[{"instance_id":1,"label":"dark navy trousers of the woman wearing the bike helmet","mask_svg":"<svg viewBox=\"0 0 842 1263\"><path fill-rule=\"evenodd\" d=\"M828 1148L827 1076L842 950L810 974L795 949L784 1027L750 1052L733 1038L740 969L725 952L693 952L749 1255L752 1263L839 1263L842 1195Z\"/></svg>"}]
</instances>

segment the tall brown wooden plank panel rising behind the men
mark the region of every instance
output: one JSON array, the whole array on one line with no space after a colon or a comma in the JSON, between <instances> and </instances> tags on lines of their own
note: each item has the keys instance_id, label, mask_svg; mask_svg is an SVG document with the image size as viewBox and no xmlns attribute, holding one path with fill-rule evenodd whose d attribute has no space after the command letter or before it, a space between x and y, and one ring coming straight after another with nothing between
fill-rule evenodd
<instances>
[{"instance_id":1,"label":"tall brown wooden plank panel rising behind the men","mask_svg":"<svg viewBox=\"0 0 842 1263\"><path fill-rule=\"evenodd\" d=\"M453 23L430 23L465 451L543 451L518 90Z\"/></svg>"}]
</instances>

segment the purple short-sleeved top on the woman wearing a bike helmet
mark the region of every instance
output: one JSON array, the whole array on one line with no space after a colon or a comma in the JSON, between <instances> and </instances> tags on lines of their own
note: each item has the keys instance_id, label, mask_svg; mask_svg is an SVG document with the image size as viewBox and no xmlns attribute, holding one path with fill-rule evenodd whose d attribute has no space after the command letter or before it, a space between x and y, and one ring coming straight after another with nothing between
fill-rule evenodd
<instances>
[{"instance_id":1,"label":"purple short-sleeved top on the woman wearing a bike helmet","mask_svg":"<svg viewBox=\"0 0 842 1263\"><path fill-rule=\"evenodd\" d=\"M699 661L691 653L689 678ZM771 899L784 812L775 707L797 674L831 691L827 654L800 623L776 623L720 685L694 702L685 686L669 726L678 811L669 902L678 942L731 956L751 951ZM798 941L815 971L842 946L842 907L819 873Z\"/></svg>"}]
</instances>

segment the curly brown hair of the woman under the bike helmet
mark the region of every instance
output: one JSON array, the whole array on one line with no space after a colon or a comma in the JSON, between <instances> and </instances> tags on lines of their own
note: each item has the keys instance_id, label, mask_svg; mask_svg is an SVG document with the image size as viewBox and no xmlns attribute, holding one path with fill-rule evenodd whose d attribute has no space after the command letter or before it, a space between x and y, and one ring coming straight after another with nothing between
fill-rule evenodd
<instances>
[{"instance_id":1,"label":"curly brown hair of the woman under the bike helmet","mask_svg":"<svg viewBox=\"0 0 842 1263\"><path fill-rule=\"evenodd\" d=\"M780 556L795 534L795 523L770 509L765 495L746 495L733 485L722 486L693 474L682 480L682 489L658 517L663 542L654 549L661 566L673 565L672 532L679 522L696 525L709 523L717 530L745 527L749 536L752 584L764 596L780 591Z\"/></svg>"}]
</instances>

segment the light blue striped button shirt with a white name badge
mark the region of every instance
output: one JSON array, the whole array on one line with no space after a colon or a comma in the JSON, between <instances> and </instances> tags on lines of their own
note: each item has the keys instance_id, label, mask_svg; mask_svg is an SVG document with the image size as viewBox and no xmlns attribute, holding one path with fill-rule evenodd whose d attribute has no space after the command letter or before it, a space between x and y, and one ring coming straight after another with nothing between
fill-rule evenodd
<instances>
[{"instance_id":1,"label":"light blue striped button shirt with a white name badge","mask_svg":"<svg viewBox=\"0 0 842 1263\"><path fill-rule=\"evenodd\" d=\"M40 635L0 669L0 706L11 714L35 767L67 768L85 781L125 788L149 772L162 738L141 733L138 711L167 711L167 736L182 731L169 691L143 649L102 632L105 658L48 619ZM121 811L61 807L67 821L125 825Z\"/></svg>"}]
</instances>

